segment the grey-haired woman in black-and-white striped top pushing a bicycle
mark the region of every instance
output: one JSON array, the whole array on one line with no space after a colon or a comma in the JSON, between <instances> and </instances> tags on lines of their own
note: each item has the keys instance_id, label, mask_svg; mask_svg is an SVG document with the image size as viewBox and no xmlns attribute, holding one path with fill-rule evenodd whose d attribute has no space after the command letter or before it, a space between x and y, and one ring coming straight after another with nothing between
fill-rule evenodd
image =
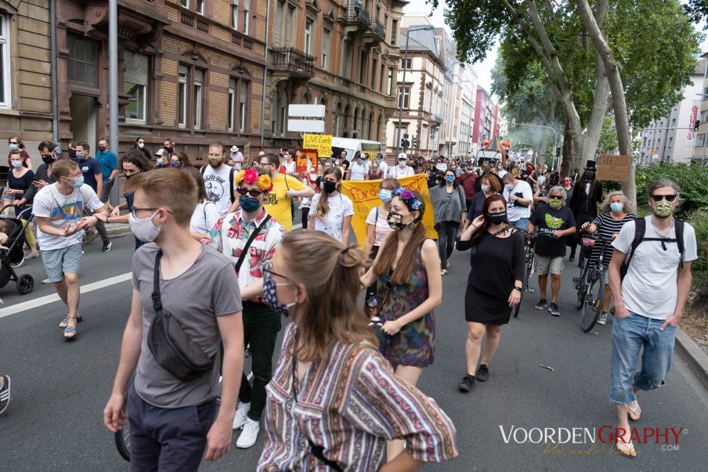
<instances>
[{"instance_id":1,"label":"grey-haired woman in black-and-white striped top pushing a bicycle","mask_svg":"<svg viewBox=\"0 0 708 472\"><path fill-rule=\"evenodd\" d=\"M582 229L588 231L588 233L598 233L600 237L605 239L615 239L619 236L619 231L622 226L627 223L627 221L632 221L636 218L636 215L632 214L632 202L629 202L629 198L624 196L619 190L615 192L610 192L605 197L602 206L603 213L598 215L597 218L593 219L593 222L583 224ZM605 266L605 276L603 283L605 284L605 298L603 299L603 311L600 313L600 318L598 318L598 325L604 325L607 323L607 317L610 311L610 301L612 301L612 291L610 290L610 275L607 270L610 267L610 260L612 259L612 246L607 244L605 246L605 251L603 253L603 265ZM600 246L593 247L593 255L590 259L593 264L597 263L600 259Z\"/></svg>"}]
</instances>

